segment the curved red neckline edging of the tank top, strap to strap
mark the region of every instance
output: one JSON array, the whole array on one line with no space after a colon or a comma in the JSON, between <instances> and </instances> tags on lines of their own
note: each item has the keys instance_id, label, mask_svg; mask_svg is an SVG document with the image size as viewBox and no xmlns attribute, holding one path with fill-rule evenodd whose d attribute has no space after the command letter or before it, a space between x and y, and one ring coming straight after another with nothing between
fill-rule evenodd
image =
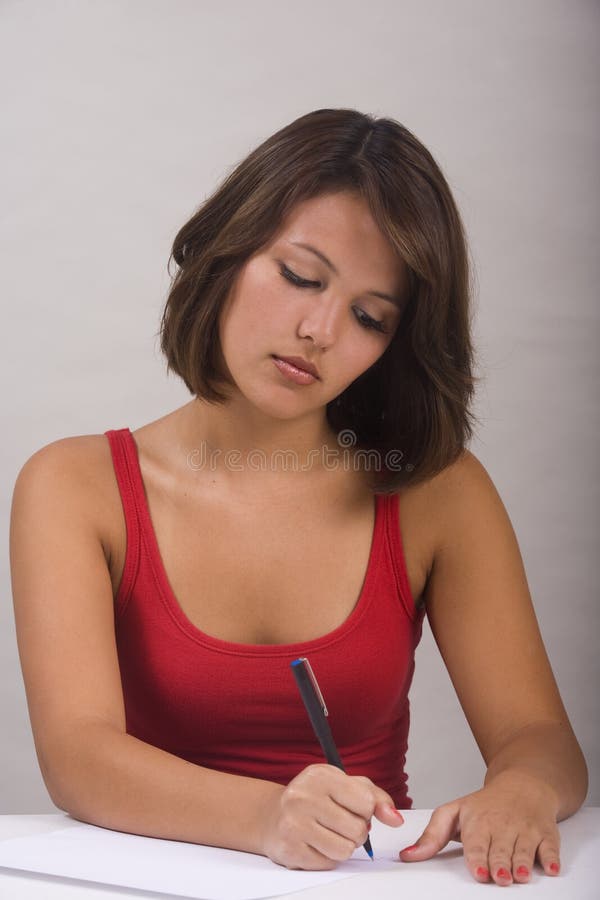
<instances>
[{"instance_id":1,"label":"curved red neckline edging of the tank top, strap to strap","mask_svg":"<svg viewBox=\"0 0 600 900\"><path fill-rule=\"evenodd\" d=\"M158 539L150 515L147 494L142 476L139 462L139 453L136 440L128 427L118 429L125 439L126 455L129 461L130 477L132 479L133 496L136 504L138 515L140 517L140 531L142 542L146 541L147 550L152 563L152 569L160 589L160 596L171 618L180 630L185 633L191 640L196 643L203 644L205 647L213 648L223 653L244 656L289 656L290 654L301 655L308 651L314 651L345 638L352 632L363 620L367 614L373 600L374 581L378 568L378 561L381 555L385 540L385 516L386 505L389 509L392 501L397 495L392 494L389 497L383 494L374 494L375 498L375 518L373 531L371 534L371 545L369 549L369 557L365 575L362 582L358 599L351 609L348 616L340 625L316 638L306 641L296 641L288 644L244 644L236 641L228 641L208 634L198 628L188 615L184 612L183 607L179 603L175 591L169 580L162 555L158 545ZM386 501L387 504L386 504ZM395 504L394 504L395 508ZM127 551L126 551L127 553ZM125 567L127 561L125 562ZM124 567L124 568L125 568ZM120 590L117 594L119 597Z\"/></svg>"}]
</instances>

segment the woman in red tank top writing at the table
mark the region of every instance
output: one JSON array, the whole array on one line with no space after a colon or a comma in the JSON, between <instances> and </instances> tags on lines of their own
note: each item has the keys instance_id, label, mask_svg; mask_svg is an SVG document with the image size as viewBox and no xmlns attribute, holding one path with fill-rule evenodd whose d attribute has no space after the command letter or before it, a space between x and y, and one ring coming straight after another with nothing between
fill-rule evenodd
<instances>
[{"instance_id":1,"label":"woman in red tank top writing at the table","mask_svg":"<svg viewBox=\"0 0 600 900\"><path fill-rule=\"evenodd\" d=\"M348 858L409 808L427 613L486 761L406 862L461 840L478 881L560 867L587 791L509 518L465 445L475 378L448 185L393 120L323 109L181 229L161 323L193 399L19 473L11 564L54 803L104 827ZM290 674L307 656L346 773Z\"/></svg>"}]
</instances>

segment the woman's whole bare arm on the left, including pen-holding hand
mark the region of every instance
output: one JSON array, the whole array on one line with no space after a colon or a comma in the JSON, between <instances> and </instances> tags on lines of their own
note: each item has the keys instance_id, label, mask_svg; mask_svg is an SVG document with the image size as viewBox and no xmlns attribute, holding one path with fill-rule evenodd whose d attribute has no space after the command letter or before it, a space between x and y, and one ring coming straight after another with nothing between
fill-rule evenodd
<instances>
[{"instance_id":1,"label":"woman's whole bare arm on the left, including pen-holding hand","mask_svg":"<svg viewBox=\"0 0 600 900\"><path fill-rule=\"evenodd\" d=\"M383 791L333 767L309 767L284 788L196 766L126 733L97 522L98 446L95 437L71 438L38 451L19 473L11 511L19 654L54 803L116 831L262 853L299 868L347 858L374 813L400 824L381 811L390 801ZM317 830L316 809L329 816L327 829Z\"/></svg>"}]
</instances>

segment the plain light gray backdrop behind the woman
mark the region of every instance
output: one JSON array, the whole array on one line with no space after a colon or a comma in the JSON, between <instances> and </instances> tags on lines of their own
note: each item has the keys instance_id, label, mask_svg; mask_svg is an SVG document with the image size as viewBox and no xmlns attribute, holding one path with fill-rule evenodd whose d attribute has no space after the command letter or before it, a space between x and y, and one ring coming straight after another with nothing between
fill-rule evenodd
<instances>
[{"instance_id":1,"label":"plain light gray backdrop behind the woman","mask_svg":"<svg viewBox=\"0 0 600 900\"><path fill-rule=\"evenodd\" d=\"M515 527L600 804L599 25L593 0L0 4L0 812L54 809L14 635L18 470L53 440L187 402L155 338L170 243L258 142L323 106L404 123L462 211L484 378L471 449ZM483 762L427 623L412 703L415 805L476 790Z\"/></svg>"}]
</instances>

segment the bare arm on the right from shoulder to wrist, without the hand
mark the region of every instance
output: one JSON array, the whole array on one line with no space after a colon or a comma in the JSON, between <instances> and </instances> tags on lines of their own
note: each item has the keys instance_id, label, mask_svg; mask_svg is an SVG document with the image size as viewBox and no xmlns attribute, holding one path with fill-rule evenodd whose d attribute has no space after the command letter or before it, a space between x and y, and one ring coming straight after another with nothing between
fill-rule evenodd
<instances>
[{"instance_id":1,"label":"bare arm on the right from shoulder to wrist, without the hand","mask_svg":"<svg viewBox=\"0 0 600 900\"><path fill-rule=\"evenodd\" d=\"M542 641L521 553L485 468L468 454L445 488L427 614L488 766L518 768L556 793L559 818L587 792L587 769Z\"/></svg>"}]
</instances>

